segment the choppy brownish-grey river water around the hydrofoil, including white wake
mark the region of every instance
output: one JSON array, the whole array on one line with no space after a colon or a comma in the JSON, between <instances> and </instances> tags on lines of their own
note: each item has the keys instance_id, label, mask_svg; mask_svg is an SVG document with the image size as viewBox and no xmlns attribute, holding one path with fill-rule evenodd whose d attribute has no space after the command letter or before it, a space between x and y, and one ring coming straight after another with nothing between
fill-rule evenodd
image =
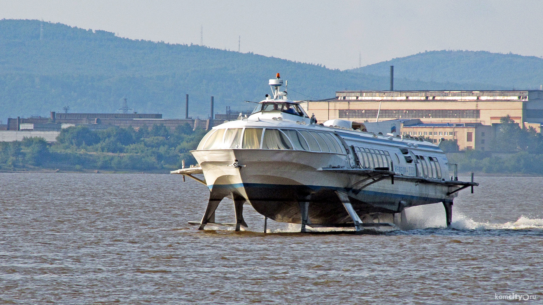
<instances>
[{"instance_id":1,"label":"choppy brownish-grey river water around the hydrofoil, including white wake","mask_svg":"<svg viewBox=\"0 0 543 305\"><path fill-rule=\"evenodd\" d=\"M412 230L264 235L248 205L251 231L188 225L209 192L177 175L0 173L0 303L541 303L543 178L476 180L453 229L436 204Z\"/></svg>"}]
</instances>

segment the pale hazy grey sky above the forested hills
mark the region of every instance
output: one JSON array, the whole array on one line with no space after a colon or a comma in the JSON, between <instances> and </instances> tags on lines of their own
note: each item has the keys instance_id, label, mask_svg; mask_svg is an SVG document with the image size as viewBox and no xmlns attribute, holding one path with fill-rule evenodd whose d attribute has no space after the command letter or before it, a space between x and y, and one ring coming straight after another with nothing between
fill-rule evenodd
<instances>
[{"instance_id":1,"label":"pale hazy grey sky above the forested hills","mask_svg":"<svg viewBox=\"0 0 543 305\"><path fill-rule=\"evenodd\" d=\"M0 18L350 69L425 50L543 56L543 1L0 0Z\"/></svg>"}]
</instances>

